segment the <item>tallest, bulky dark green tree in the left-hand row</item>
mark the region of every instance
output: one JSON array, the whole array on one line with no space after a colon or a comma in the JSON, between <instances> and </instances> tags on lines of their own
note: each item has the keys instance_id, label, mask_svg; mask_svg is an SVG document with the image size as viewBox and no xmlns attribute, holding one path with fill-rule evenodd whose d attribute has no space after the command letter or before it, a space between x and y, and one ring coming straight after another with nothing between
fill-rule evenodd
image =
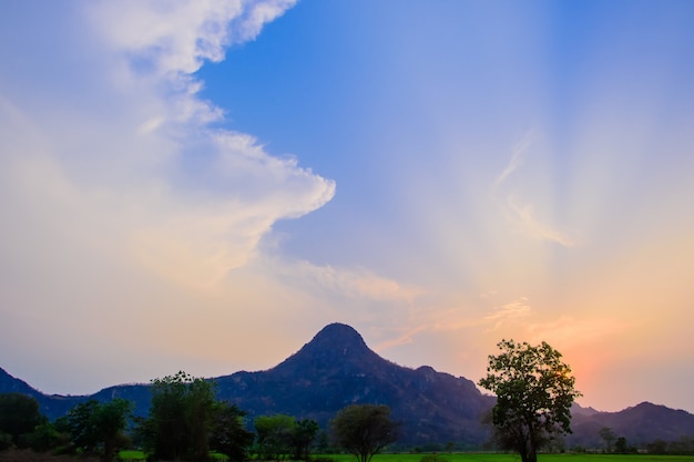
<instances>
[{"instance_id":1,"label":"tallest, bulky dark green tree in the left-hand row","mask_svg":"<svg viewBox=\"0 0 694 462\"><path fill-rule=\"evenodd\" d=\"M215 409L215 384L183 371L152 380L150 415L139 431L154 459L206 460Z\"/></svg>"}]
</instances>

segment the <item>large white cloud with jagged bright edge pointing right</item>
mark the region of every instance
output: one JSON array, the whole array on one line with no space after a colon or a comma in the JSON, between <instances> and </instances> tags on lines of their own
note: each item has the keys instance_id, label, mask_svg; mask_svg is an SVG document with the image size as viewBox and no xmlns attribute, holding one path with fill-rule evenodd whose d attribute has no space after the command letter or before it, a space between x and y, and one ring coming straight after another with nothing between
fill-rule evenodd
<instances>
[{"instance_id":1,"label":"large white cloud with jagged bright edge pointing right","mask_svg":"<svg viewBox=\"0 0 694 462\"><path fill-rule=\"evenodd\" d=\"M6 100L4 126L16 135L3 137L3 151L17 155L6 156L4 172L18 188L7 197L18 207L53 202L84 229L110 223L111 245L178 283L212 284L242 266L276 220L323 206L335 184L268 154L251 135L211 127L221 112L198 99L192 73L222 60L228 44L254 39L292 3L90 4L89 25L108 47L102 69L83 79L112 78L90 85L113 112L104 121L94 117L103 107L84 105L58 122L58 133L54 121ZM37 138L42 146L21 145Z\"/></svg>"}]
</instances>

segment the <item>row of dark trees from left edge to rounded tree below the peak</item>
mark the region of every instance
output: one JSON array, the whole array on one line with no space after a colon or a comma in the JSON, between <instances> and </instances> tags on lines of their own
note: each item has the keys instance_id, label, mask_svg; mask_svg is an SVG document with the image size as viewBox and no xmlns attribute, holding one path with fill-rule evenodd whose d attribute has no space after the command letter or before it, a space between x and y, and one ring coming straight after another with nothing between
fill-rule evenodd
<instances>
[{"instance_id":1,"label":"row of dark trees from left edge to rounded tree below the peak","mask_svg":"<svg viewBox=\"0 0 694 462\"><path fill-rule=\"evenodd\" d=\"M137 449L152 461L207 461L211 454L241 462L307 461L312 448L336 448L367 461L397 439L398 424L385 405L350 405L330 429L310 419L261 415L216 399L216 384L185 372L152 381L146 418L134 417L131 401L89 400L49 421L38 401L21 393L0 394L0 450L32 449L57 454L95 454L110 462L120 450ZM335 446L331 446L335 445Z\"/></svg>"}]
</instances>

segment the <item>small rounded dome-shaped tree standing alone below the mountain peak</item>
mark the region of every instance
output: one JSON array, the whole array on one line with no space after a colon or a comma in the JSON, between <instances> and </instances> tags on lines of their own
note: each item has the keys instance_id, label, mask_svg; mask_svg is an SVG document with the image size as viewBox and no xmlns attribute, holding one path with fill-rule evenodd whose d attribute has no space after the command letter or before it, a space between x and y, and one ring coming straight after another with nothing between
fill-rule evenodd
<instances>
[{"instance_id":1,"label":"small rounded dome-shaped tree standing alone below the mountain peak","mask_svg":"<svg viewBox=\"0 0 694 462\"><path fill-rule=\"evenodd\" d=\"M390 408L380 404L348 405L331 422L337 445L359 462L369 462L374 454L397 441L399 427L390 419Z\"/></svg>"}]
</instances>

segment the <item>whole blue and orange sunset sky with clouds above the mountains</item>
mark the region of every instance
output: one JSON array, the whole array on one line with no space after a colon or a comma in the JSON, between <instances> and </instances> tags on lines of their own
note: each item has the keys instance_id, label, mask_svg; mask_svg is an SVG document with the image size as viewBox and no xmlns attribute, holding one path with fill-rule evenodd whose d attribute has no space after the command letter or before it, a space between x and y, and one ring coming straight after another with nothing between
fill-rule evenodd
<instances>
[{"instance_id":1,"label":"whole blue and orange sunset sky with clouds above the mountains","mask_svg":"<svg viewBox=\"0 0 694 462\"><path fill-rule=\"evenodd\" d=\"M694 412L694 2L0 2L0 367L86 394L345 322Z\"/></svg>"}]
</instances>

